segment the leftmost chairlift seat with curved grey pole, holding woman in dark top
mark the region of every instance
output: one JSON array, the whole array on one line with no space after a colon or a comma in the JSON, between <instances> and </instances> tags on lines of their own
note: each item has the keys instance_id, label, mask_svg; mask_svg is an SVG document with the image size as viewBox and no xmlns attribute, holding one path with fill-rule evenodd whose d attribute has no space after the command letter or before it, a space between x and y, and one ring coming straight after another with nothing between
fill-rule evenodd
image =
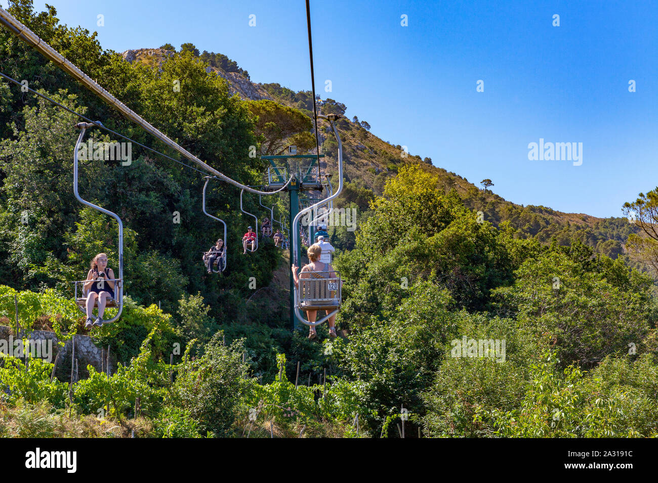
<instances>
[{"instance_id":1,"label":"leftmost chairlift seat with curved grey pole, holding woman in dark top","mask_svg":"<svg viewBox=\"0 0 658 483\"><path fill-rule=\"evenodd\" d=\"M119 256L119 266L118 266L118 271L119 271L119 277L118 279L109 279L103 281L105 282L113 282L114 283L114 298L111 298L107 300L107 303L105 304L105 308L116 308L118 309L116 311L116 315L112 317L109 320L103 320L104 324L109 324L112 323L121 316L121 313L123 311L123 223L121 221L121 218L117 214L114 214L113 212L106 210L105 208L101 208L100 206L97 206L91 202L88 202L86 200L83 200L82 197L80 196L80 193L78 193L78 149L80 147L80 143L82 143L82 139L84 138L85 132L89 127L96 126L97 124L100 124L100 122L96 123L91 123L91 122L78 122L76 124L76 127L80 129L80 135L78 136L78 142L76 143L76 147L73 151L73 193L76 196L76 199L81 202L82 204L89 206L89 208L93 208L94 210L101 212L103 214L106 214L108 216L111 216L112 218L116 219L116 223L118 223L119 227L119 240L118 240L118 256ZM84 288L84 284L88 283L88 280L76 280L74 281L74 297L76 301L76 305L82 313L86 314L86 306L87 306L87 298L89 296L89 290ZM94 282L94 283L99 283L99 282ZM80 297L78 297L78 285L82 285L82 288L80 290ZM96 299L95 306L98 306L98 299Z\"/></svg>"}]
</instances>

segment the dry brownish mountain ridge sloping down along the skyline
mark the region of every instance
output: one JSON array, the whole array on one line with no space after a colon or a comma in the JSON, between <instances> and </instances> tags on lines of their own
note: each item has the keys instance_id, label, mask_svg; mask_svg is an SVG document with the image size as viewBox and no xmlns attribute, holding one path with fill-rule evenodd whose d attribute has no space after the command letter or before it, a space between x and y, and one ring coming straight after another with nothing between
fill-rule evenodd
<instances>
[{"instance_id":1,"label":"dry brownish mountain ridge sloping down along the skyline","mask_svg":"<svg viewBox=\"0 0 658 483\"><path fill-rule=\"evenodd\" d=\"M207 53L204 53L207 54ZM174 51L158 49L129 49L121 54L128 62L141 62L153 68L174 55ZM240 72L227 72L218 66L207 67L207 72L226 80L230 93L238 95L243 100L259 101L267 99L291 106L311 115L313 104L310 91L291 91L278 83L255 83ZM333 99L320 101L322 112L338 112L344 114L345 106ZM367 126L368 129L365 129ZM599 218L584 213L559 212L546 206L522 205L505 200L502 196L490 190L478 188L465 177L448 172L431 164L430 158L424 160L405 152L400 145L392 145L369 132L369 125L347 118L338 123L343 141L343 167L345 181L356 181L363 187L373 191L375 195L383 193L386 179L397 173L397 169L405 163L418 162L422 169L436 175L443 191L448 193L453 189L463 199L465 205L476 211L482 211L485 220L499 225L510 221L513 227L524 235L537 236L542 242L555 238L559 244L569 244L574 237L581 239L598 252L617 258L624 254L624 243L630 233L636 233L638 227L628 222L626 218ZM327 137L327 128L320 128L320 144L325 154L327 166L335 164L337 148L335 141ZM358 180L358 181L357 181ZM551 226L552 225L552 226ZM560 229L557 229L559 227Z\"/></svg>"}]
</instances>

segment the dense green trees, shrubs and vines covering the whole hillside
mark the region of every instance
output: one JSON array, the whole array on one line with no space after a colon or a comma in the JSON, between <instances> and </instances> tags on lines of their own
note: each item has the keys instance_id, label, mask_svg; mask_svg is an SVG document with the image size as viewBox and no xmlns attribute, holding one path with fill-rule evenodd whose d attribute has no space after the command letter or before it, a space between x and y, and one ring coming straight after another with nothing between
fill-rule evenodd
<instances>
[{"instance_id":1,"label":"dense green trees, shrubs and vines covering the whole hillside","mask_svg":"<svg viewBox=\"0 0 658 483\"><path fill-rule=\"evenodd\" d=\"M263 183L252 147L315 148L310 92L269 83L272 100L240 99L207 70L248 78L226 55L163 45L172 55L155 68L62 25L54 7L16 0L9 11L241 183ZM0 72L178 159L7 30ZM325 99L321 109L346 108ZM356 209L357 229L329 229L341 336L322 325L309 340L290 327L288 254L271 241L242 253L240 191L220 181L207 191L209 211L228 222L229 260L208 274L202 252L220 229L201 210L203 174L133 143L127 166L80 164L80 193L125 225L124 312L86 329L71 281L99 252L117 266L118 227L73 196L78 120L0 81L0 325L16 337L52 331L61 346L89 335L112 364L3 357L0 436L658 436L658 189L624 205L634 223L569 218L401 157L367 122L341 120L349 168L336 206ZM338 145L320 129L335 174ZM273 202L285 212L284 196ZM245 204L265 214L255 196Z\"/></svg>"}]
</instances>

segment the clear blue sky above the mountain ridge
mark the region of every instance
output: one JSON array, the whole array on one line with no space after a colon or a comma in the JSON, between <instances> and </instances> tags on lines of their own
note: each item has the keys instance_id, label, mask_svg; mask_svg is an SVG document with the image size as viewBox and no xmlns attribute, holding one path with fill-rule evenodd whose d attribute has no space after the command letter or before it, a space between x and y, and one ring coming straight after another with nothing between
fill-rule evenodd
<instances>
[{"instance_id":1,"label":"clear blue sky above the mountain ridge","mask_svg":"<svg viewBox=\"0 0 658 483\"><path fill-rule=\"evenodd\" d=\"M49 3L107 49L192 42L255 82L310 88L303 0ZM472 183L492 179L507 200L620 216L658 185L656 1L312 0L311 20L323 97L411 154ZM582 143L582 165L528 160L540 138Z\"/></svg>"}]
</instances>

